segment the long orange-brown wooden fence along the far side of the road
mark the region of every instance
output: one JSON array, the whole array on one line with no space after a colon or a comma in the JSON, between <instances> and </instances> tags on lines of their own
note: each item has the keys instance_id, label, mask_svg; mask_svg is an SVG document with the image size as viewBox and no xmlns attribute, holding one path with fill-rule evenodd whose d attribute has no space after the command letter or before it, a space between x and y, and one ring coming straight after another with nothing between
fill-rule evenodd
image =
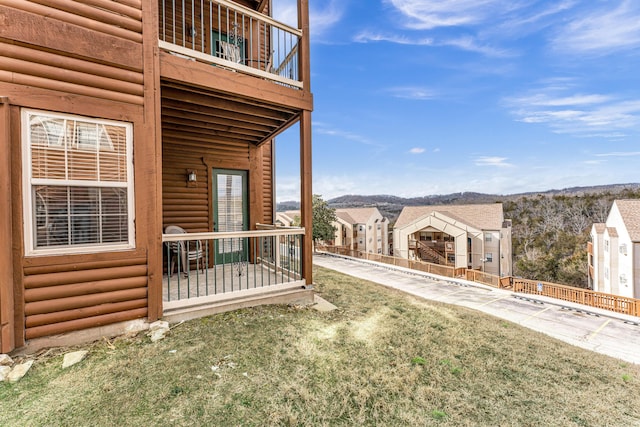
<instances>
[{"instance_id":1,"label":"long orange-brown wooden fence along the far side of the road","mask_svg":"<svg viewBox=\"0 0 640 427\"><path fill-rule=\"evenodd\" d=\"M495 288L513 289L514 292L541 295L562 301L569 301L590 307L614 311L616 313L628 314L630 316L640 316L640 299L636 298L605 294L589 289L541 282L538 280L522 279L511 276L499 277L478 270L453 268L444 265L430 264L424 261L413 261L405 258L371 254L364 251L349 250L348 248L340 246L319 246L318 249L339 255L378 261L385 264L423 271L425 273L437 274L439 276L464 277L469 281L482 283Z\"/></svg>"}]
</instances>

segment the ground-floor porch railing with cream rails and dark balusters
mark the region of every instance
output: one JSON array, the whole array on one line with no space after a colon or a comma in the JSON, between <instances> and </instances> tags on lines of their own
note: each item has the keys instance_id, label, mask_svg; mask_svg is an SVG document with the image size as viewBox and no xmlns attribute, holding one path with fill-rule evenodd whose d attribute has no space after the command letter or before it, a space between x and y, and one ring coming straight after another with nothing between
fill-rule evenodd
<instances>
[{"instance_id":1,"label":"ground-floor porch railing with cream rails and dark balusters","mask_svg":"<svg viewBox=\"0 0 640 427\"><path fill-rule=\"evenodd\" d=\"M163 300L304 285L304 228L163 234Z\"/></svg>"}]
</instances>

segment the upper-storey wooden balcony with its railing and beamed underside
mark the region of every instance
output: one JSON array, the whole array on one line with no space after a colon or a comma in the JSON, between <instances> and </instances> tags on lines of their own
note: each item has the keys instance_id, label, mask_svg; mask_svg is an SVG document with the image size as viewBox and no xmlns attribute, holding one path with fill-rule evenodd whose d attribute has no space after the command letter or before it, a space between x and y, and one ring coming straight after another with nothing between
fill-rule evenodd
<instances>
[{"instance_id":1,"label":"upper-storey wooden balcony with its railing and beamed underside","mask_svg":"<svg viewBox=\"0 0 640 427\"><path fill-rule=\"evenodd\" d=\"M158 0L165 134L261 145L312 110L308 35L255 3Z\"/></svg>"}]
</instances>

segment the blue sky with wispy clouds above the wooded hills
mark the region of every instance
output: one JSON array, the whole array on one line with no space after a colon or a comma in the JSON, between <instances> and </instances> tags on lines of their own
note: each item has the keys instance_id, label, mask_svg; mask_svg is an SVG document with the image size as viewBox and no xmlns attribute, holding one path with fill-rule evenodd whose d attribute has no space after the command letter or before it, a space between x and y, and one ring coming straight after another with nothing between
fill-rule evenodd
<instances>
[{"instance_id":1,"label":"blue sky with wispy clouds above the wooded hills","mask_svg":"<svg viewBox=\"0 0 640 427\"><path fill-rule=\"evenodd\" d=\"M294 0L274 1L291 21ZM310 0L313 192L640 181L640 1ZM297 127L276 198L299 199Z\"/></svg>"}]
</instances>

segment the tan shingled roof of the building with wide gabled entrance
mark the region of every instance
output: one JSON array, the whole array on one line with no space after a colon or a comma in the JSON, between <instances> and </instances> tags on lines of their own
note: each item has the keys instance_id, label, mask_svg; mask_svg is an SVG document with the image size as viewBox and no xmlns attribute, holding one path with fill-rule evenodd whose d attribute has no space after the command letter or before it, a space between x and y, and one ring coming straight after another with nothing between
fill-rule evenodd
<instances>
[{"instance_id":1,"label":"tan shingled roof of the building with wide gabled entrance","mask_svg":"<svg viewBox=\"0 0 640 427\"><path fill-rule=\"evenodd\" d=\"M504 222L502 203L477 205L406 206L400 212L395 228L402 228L432 212L462 221L479 230L499 230Z\"/></svg>"}]
</instances>

